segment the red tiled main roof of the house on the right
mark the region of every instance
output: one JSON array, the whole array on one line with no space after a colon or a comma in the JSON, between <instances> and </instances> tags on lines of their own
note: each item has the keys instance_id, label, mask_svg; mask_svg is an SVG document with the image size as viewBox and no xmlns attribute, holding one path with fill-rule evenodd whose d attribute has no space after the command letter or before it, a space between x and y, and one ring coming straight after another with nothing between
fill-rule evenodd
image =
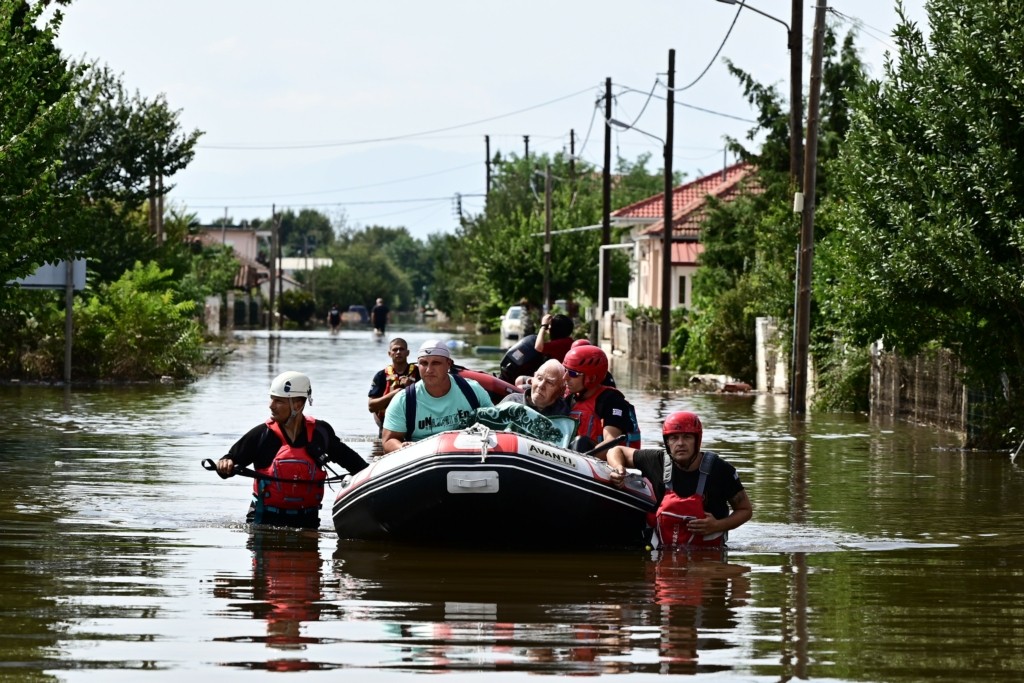
<instances>
[{"instance_id":1,"label":"red tiled main roof of the house on the right","mask_svg":"<svg viewBox=\"0 0 1024 683\"><path fill-rule=\"evenodd\" d=\"M707 214L708 196L725 199L735 195L739 182L754 170L751 164L739 162L672 190L672 228L675 239L696 240L700 223ZM618 222L635 220L649 223L641 234L660 233L665 215L665 193L649 197L612 212Z\"/></svg>"}]
</instances>

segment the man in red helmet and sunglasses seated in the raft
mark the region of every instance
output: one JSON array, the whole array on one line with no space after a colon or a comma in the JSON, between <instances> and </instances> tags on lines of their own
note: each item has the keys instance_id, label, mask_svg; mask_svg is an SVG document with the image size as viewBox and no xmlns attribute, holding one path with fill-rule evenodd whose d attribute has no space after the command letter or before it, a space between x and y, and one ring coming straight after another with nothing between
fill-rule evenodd
<instances>
[{"instance_id":1,"label":"man in red helmet and sunglasses seated in the raft","mask_svg":"<svg viewBox=\"0 0 1024 683\"><path fill-rule=\"evenodd\" d=\"M569 416L580 423L577 449L627 435L627 444L640 447L640 425L636 409L618 389L604 384L608 356L593 345L574 346L565 354L565 386L570 396Z\"/></svg>"}]
</instances>

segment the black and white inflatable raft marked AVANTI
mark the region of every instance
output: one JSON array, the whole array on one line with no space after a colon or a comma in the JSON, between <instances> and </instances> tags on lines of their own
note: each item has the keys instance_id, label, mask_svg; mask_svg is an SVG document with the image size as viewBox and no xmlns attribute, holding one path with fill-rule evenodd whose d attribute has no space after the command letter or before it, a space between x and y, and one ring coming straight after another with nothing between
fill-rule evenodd
<instances>
[{"instance_id":1,"label":"black and white inflatable raft marked AVANTI","mask_svg":"<svg viewBox=\"0 0 1024 683\"><path fill-rule=\"evenodd\" d=\"M516 410L528 411L518 404ZM508 414L502 411L503 417ZM608 483L608 474L597 458L478 423L373 462L338 493L334 523L342 539L638 545L645 516L655 507L654 494L640 476L620 489Z\"/></svg>"}]
</instances>

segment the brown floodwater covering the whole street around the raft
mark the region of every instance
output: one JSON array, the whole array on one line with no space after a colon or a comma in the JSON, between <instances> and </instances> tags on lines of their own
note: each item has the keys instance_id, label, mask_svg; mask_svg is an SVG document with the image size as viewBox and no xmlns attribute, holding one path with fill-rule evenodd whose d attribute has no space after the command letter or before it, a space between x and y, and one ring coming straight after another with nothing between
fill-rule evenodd
<instances>
[{"instance_id":1,"label":"brown floodwater covering the whole street around the raft","mask_svg":"<svg viewBox=\"0 0 1024 683\"><path fill-rule=\"evenodd\" d=\"M200 462L266 419L286 370L371 458L387 354L362 330L241 340L187 386L0 387L0 680L1024 676L1024 459L862 416L791 423L784 396L650 393L613 365L645 444L693 410L738 469L754 519L725 557L339 541L330 489L318 533L254 530L252 481ZM496 370L475 343L456 362Z\"/></svg>"}]
</instances>

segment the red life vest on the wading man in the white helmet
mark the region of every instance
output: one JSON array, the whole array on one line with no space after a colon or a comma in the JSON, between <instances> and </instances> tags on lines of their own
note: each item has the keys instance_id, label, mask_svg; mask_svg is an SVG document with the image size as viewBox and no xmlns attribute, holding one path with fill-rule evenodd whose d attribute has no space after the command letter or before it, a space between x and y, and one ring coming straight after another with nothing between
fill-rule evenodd
<instances>
[{"instance_id":1,"label":"red life vest on the wading man in the white helmet","mask_svg":"<svg viewBox=\"0 0 1024 683\"><path fill-rule=\"evenodd\" d=\"M313 440L314 418L306 417L306 443ZM264 506L282 510L305 510L319 508L324 500L324 480L327 470L309 455L308 446L290 445L274 420L267 420L266 427L281 439L281 449L270 464L256 470L260 474L274 479L295 479L295 483L256 479L253 482L253 493Z\"/></svg>"}]
</instances>

